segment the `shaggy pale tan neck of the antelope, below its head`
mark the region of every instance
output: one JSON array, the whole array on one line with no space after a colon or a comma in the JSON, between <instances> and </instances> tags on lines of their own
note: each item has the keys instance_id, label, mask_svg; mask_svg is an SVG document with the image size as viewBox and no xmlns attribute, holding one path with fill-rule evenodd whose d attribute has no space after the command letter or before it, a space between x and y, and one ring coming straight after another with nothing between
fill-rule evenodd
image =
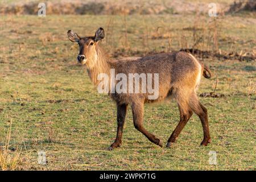
<instances>
[{"instance_id":1,"label":"shaggy pale tan neck of the antelope, below its head","mask_svg":"<svg viewBox=\"0 0 256 182\"><path fill-rule=\"evenodd\" d=\"M90 79L94 85L98 85L101 80L98 80L100 73L106 73L110 77L110 63L104 54L104 51L97 45L96 47L97 56L95 56L93 65L89 66L87 71Z\"/></svg>"}]
</instances>

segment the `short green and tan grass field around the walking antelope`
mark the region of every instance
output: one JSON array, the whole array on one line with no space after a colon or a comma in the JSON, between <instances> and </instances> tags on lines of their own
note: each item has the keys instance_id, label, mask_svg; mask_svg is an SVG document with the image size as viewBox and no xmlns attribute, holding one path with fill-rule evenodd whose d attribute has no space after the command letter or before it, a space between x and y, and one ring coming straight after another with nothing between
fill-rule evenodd
<instances>
[{"instance_id":1,"label":"short green and tan grass field around the walking antelope","mask_svg":"<svg viewBox=\"0 0 256 182\"><path fill-rule=\"evenodd\" d=\"M104 27L101 44L110 56L141 56L178 50L184 36L191 47L189 27L195 19L196 15L1 16L0 145L12 122L10 152L22 147L15 169L255 170L255 61L200 59L214 76L202 79L198 93L212 92L218 75L216 92L225 95L200 98L209 113L209 146L199 146L203 130L195 114L174 146L155 146L134 129L129 108L122 147L106 150L115 138L115 104L97 92L86 68L76 63L78 47L68 40L67 30L85 36ZM227 15L218 23L222 52L255 51L253 16ZM157 27L164 27L157 34L170 35L152 38ZM146 105L144 126L163 142L178 121L175 102ZM38 164L41 150L47 165ZM209 151L217 152L217 165L209 165Z\"/></svg>"}]
</instances>

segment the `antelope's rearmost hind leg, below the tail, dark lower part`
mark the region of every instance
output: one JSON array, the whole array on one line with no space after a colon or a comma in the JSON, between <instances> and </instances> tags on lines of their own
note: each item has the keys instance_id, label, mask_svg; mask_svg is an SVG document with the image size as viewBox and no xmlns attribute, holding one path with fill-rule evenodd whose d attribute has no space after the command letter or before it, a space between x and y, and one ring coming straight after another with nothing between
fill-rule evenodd
<instances>
[{"instance_id":1,"label":"antelope's rearmost hind leg, below the tail, dark lower part","mask_svg":"<svg viewBox=\"0 0 256 182\"><path fill-rule=\"evenodd\" d=\"M196 93L192 94L189 105L191 106L191 109L199 116L203 126L204 139L201 142L201 145L207 146L207 144L211 142L207 109L199 102Z\"/></svg>"}]
</instances>

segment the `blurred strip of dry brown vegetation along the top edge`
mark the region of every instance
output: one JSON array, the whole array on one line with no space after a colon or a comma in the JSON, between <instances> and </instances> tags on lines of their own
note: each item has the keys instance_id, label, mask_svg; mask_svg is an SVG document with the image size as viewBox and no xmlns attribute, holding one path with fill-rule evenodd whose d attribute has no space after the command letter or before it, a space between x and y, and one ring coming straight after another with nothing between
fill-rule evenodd
<instances>
[{"instance_id":1,"label":"blurred strip of dry brown vegetation along the top edge","mask_svg":"<svg viewBox=\"0 0 256 182\"><path fill-rule=\"evenodd\" d=\"M34 14L38 12L40 1L7 1L2 3L0 14ZM45 1L47 5L47 14L183 14L200 11L207 13L210 1L187 1L187 0L157 0L157 1ZM218 6L218 13L229 9L228 3L233 2L218 0L215 3Z\"/></svg>"}]
</instances>

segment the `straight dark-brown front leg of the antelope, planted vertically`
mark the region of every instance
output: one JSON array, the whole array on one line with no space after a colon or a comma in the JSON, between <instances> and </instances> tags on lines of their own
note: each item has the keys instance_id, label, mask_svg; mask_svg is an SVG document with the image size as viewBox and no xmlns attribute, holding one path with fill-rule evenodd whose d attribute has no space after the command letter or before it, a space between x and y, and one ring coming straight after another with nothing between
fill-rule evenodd
<instances>
[{"instance_id":1,"label":"straight dark-brown front leg of the antelope, planted vertically","mask_svg":"<svg viewBox=\"0 0 256 182\"><path fill-rule=\"evenodd\" d=\"M120 147L122 143L122 134L123 134L123 124L125 123L127 111L127 104L117 104L117 137L115 138L115 142L109 147L109 150L113 150L114 148Z\"/></svg>"}]
</instances>

